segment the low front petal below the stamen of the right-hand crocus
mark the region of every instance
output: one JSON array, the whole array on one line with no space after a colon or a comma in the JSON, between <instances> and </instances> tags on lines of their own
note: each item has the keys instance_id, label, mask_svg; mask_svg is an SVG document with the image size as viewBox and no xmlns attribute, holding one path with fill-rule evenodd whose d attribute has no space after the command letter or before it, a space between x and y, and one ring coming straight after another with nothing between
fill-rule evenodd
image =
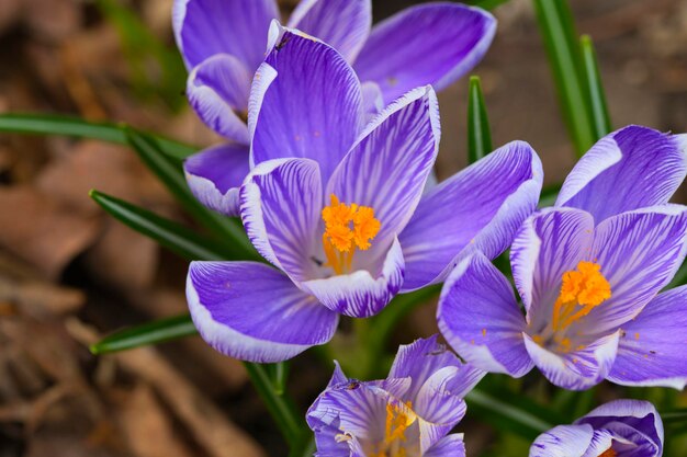
<instances>
[{"instance_id":1,"label":"low front petal below the stamen of the right-hand crocus","mask_svg":"<svg viewBox=\"0 0 687 457\"><path fill-rule=\"evenodd\" d=\"M604 380L616 359L619 336L618 331L583 349L556 354L523 333L525 347L534 365L552 384L568 390L585 390Z\"/></svg>"}]
</instances>

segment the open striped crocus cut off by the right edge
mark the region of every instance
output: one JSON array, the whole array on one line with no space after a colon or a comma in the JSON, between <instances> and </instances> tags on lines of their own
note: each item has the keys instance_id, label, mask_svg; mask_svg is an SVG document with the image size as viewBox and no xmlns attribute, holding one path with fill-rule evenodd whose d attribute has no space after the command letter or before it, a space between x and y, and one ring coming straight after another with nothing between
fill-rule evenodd
<instances>
[{"instance_id":1,"label":"open striped crocus cut off by the right edge","mask_svg":"<svg viewBox=\"0 0 687 457\"><path fill-rule=\"evenodd\" d=\"M447 341L483 369L553 384L604 378L683 388L687 292L658 294L685 258L686 207L668 204L685 178L684 136L630 126L599 140L565 180L555 207L529 217L510 251L510 284L483 255L444 284Z\"/></svg>"}]
</instances>

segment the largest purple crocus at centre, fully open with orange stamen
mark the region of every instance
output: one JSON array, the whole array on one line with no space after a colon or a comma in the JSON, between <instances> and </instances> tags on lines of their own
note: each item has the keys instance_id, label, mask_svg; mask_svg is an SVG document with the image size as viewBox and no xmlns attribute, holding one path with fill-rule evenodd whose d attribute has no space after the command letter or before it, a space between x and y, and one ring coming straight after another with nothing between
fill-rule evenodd
<instances>
[{"instance_id":1,"label":"largest purple crocus at centre, fully open with orange stamen","mask_svg":"<svg viewBox=\"0 0 687 457\"><path fill-rule=\"evenodd\" d=\"M254 362L328 341L339 315L369 317L443 279L460 255L495 256L534 209L541 163L514 142L427 190L439 145L433 90L364 124L360 82L330 46L275 31L256 75L251 162L237 199L255 262L193 262L201 335Z\"/></svg>"}]
</instances>

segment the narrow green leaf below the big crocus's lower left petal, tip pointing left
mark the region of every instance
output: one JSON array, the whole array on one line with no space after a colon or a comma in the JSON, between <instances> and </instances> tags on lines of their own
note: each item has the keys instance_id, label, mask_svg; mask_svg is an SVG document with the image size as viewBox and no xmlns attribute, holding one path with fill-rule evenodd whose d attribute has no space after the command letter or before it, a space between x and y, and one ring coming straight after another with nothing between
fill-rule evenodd
<instances>
[{"instance_id":1,"label":"narrow green leaf below the big crocus's lower left petal, tip pointing left","mask_svg":"<svg viewBox=\"0 0 687 457\"><path fill-rule=\"evenodd\" d=\"M198 334L189 315L160 319L113 333L90 346L92 354L108 354Z\"/></svg>"}]
</instances>

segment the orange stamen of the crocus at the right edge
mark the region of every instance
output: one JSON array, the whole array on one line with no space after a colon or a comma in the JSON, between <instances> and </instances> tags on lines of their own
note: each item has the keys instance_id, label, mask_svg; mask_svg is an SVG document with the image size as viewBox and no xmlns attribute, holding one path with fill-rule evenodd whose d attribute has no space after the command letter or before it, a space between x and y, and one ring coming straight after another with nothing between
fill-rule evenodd
<instances>
[{"instance_id":1,"label":"orange stamen of the crocus at the right edge","mask_svg":"<svg viewBox=\"0 0 687 457\"><path fill-rule=\"evenodd\" d=\"M601 266L582 261L577 270L563 273L561 294L553 305L554 331L564 330L611 296L610 284L601 274Z\"/></svg>"}]
</instances>

